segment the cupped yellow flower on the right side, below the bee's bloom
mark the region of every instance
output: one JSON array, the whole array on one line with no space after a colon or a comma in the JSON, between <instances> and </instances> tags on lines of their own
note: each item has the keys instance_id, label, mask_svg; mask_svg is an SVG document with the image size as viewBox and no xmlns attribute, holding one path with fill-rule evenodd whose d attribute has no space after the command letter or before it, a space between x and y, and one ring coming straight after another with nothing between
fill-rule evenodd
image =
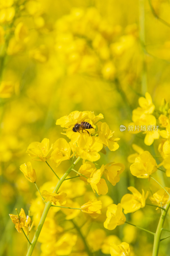
<instances>
[{"instance_id":1,"label":"cupped yellow flower on the right side, below the bee's bloom","mask_svg":"<svg viewBox=\"0 0 170 256\"><path fill-rule=\"evenodd\" d=\"M104 176L105 178L110 181L110 183L115 186L117 182L119 182L120 177L119 175L124 171L125 166L121 163L109 163L104 166Z\"/></svg>"}]
</instances>

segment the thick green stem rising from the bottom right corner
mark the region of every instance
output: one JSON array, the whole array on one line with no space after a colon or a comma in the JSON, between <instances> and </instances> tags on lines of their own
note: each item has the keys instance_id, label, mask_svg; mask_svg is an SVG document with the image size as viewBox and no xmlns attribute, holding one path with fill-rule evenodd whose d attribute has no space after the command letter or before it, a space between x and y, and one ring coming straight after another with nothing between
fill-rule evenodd
<instances>
[{"instance_id":1,"label":"thick green stem rising from the bottom right corner","mask_svg":"<svg viewBox=\"0 0 170 256\"><path fill-rule=\"evenodd\" d=\"M164 225L164 222L165 222L165 218L166 218L166 214L168 212L169 206L170 206L170 203L166 205L165 211L162 211L162 213L161 213L159 223L158 223L158 226L157 226L157 230L156 230L156 233L155 233L155 237L154 237L152 256L158 256L160 237L161 237L163 225Z\"/></svg>"}]
</instances>

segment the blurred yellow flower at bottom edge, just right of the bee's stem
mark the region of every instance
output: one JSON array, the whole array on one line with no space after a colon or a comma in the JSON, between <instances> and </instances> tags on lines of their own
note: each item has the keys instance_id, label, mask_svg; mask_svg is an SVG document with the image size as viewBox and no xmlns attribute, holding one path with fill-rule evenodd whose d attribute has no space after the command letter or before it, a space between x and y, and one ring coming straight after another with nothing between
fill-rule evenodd
<instances>
[{"instance_id":1,"label":"blurred yellow flower at bottom edge, just right of the bee's stem","mask_svg":"<svg viewBox=\"0 0 170 256\"><path fill-rule=\"evenodd\" d=\"M72 233L64 233L54 244L57 255L70 255L73 246L76 244L77 235Z\"/></svg>"}]
</instances>

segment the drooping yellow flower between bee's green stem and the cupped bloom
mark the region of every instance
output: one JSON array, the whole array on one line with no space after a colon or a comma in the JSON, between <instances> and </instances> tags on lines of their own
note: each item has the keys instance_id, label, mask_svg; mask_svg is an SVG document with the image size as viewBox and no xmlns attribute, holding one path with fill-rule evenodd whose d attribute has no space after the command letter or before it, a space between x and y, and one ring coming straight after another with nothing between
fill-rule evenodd
<instances>
[{"instance_id":1,"label":"drooping yellow flower between bee's green stem and the cupped bloom","mask_svg":"<svg viewBox=\"0 0 170 256\"><path fill-rule=\"evenodd\" d=\"M104 171L104 165L100 169L94 171L90 178L87 179L87 182L90 183L92 190L97 192L98 195L106 195L108 192L108 187L106 181L101 179L101 176Z\"/></svg>"}]
</instances>

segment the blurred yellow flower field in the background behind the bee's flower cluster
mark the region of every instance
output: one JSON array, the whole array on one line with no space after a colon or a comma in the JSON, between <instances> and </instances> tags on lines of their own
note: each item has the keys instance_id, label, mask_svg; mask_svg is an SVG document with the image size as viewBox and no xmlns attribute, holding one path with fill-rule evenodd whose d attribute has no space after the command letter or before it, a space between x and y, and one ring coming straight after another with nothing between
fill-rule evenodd
<instances>
[{"instance_id":1,"label":"blurred yellow flower field in the background behind the bee's flower cluster","mask_svg":"<svg viewBox=\"0 0 170 256\"><path fill-rule=\"evenodd\" d=\"M0 256L26 255L26 239L14 230L8 214L21 207L27 212L36 197L33 184L19 171L30 161L28 145L64 136L56 119L74 110L102 113L121 138L119 150L99 160L126 166L108 193L114 203L129 185L147 187L129 173L127 156L133 153L132 143L151 151L154 146L144 145L142 135L121 132L120 125L128 126L145 92L156 108L163 98L170 100L169 13L168 0L0 0ZM59 172L68 166L58 167ZM44 163L34 162L34 168L38 187L53 179ZM146 208L131 218L152 229L154 211ZM152 237L136 237L130 228L108 234L131 243L134 255L152 255ZM162 244L159 255L167 256L167 241ZM48 253L39 243L33 255Z\"/></svg>"}]
</instances>

